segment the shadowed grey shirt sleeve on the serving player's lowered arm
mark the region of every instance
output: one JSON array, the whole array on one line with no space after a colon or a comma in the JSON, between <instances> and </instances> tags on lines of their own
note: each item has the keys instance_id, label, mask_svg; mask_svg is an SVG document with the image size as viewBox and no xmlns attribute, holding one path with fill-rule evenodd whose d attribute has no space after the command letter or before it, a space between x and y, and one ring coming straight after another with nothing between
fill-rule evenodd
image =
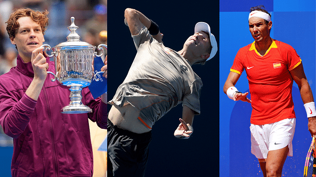
<instances>
[{"instance_id":1,"label":"shadowed grey shirt sleeve on the serving player's lowered arm","mask_svg":"<svg viewBox=\"0 0 316 177\"><path fill-rule=\"evenodd\" d=\"M194 81L190 86L190 93L185 95L183 99L182 106L187 106L191 110L195 112L196 115L200 114L200 103L199 103L199 96L200 91L202 88L202 81L201 79L197 79Z\"/></svg>"}]
</instances>

